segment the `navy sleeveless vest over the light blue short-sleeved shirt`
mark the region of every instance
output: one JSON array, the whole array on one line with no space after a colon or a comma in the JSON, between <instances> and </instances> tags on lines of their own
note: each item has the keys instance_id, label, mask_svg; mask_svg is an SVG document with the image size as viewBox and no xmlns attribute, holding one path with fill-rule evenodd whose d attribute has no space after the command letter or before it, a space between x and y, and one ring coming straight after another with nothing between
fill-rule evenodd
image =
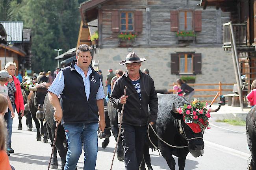
<instances>
[{"instance_id":1,"label":"navy sleeveless vest over the light blue short-sleeved shirt","mask_svg":"<svg viewBox=\"0 0 256 170\"><path fill-rule=\"evenodd\" d=\"M65 83L61 93L62 123L97 123L96 94L100 87L100 75L90 65L93 72L90 74L90 96L87 100L83 78L75 70L75 62L73 60L71 66L61 69Z\"/></svg>"}]
</instances>

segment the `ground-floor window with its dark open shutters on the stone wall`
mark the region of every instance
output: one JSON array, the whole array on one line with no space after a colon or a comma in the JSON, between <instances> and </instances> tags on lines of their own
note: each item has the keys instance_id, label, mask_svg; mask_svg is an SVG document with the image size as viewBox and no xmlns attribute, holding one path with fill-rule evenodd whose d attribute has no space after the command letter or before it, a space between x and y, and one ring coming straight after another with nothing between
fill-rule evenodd
<instances>
[{"instance_id":1,"label":"ground-floor window with its dark open shutters on the stone wall","mask_svg":"<svg viewBox=\"0 0 256 170\"><path fill-rule=\"evenodd\" d=\"M202 74L202 55L195 52L171 54L171 74Z\"/></svg>"}]
</instances>

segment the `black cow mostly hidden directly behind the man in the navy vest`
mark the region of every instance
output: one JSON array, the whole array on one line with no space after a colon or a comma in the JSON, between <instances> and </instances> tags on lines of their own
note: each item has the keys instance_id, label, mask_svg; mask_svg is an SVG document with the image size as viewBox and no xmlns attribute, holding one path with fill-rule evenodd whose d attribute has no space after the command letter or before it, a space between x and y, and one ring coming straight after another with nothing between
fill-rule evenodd
<instances>
[{"instance_id":1,"label":"black cow mostly hidden directly behind the man in the navy vest","mask_svg":"<svg viewBox=\"0 0 256 170\"><path fill-rule=\"evenodd\" d=\"M45 114L46 128L49 133L49 138L51 143L53 144L55 129L56 129L56 121L54 120L54 108L52 107L48 93L45 96L45 102L43 104L43 112ZM58 125L56 143L54 147L54 153L52 156L51 168L58 169L58 160L57 160L57 150L59 152L59 156L61 157L61 169L64 169L66 163L66 155L67 155L67 140L64 131L63 125ZM65 145L65 146L64 146ZM57 148L57 150L56 150Z\"/></svg>"}]
</instances>

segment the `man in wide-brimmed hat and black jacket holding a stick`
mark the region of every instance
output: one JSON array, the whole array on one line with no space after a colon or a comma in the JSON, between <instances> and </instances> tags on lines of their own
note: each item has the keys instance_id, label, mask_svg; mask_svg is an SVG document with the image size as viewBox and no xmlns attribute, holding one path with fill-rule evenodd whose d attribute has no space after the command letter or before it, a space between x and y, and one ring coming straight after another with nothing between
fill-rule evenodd
<instances>
[{"instance_id":1,"label":"man in wide-brimmed hat and black jacket holding a stick","mask_svg":"<svg viewBox=\"0 0 256 170\"><path fill-rule=\"evenodd\" d=\"M156 123L158 98L152 78L141 72L141 62L135 52L130 52L120 65L125 64L127 71L115 81L110 97L110 103L118 109L120 123L122 104L124 105L122 119L122 143L125 148L124 162L126 170L137 170L143 159L143 145L147 134L148 118L150 123ZM126 96L124 87L127 86ZM148 105L150 115L148 115Z\"/></svg>"}]
</instances>

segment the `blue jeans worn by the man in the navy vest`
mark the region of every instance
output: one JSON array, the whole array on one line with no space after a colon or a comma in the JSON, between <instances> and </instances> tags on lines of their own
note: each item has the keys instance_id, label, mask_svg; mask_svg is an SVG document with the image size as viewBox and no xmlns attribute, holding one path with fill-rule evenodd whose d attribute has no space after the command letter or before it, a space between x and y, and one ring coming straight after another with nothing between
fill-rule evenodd
<instances>
[{"instance_id":1,"label":"blue jeans worn by the man in the navy vest","mask_svg":"<svg viewBox=\"0 0 256 170\"><path fill-rule=\"evenodd\" d=\"M84 150L84 170L95 170L98 152L98 123L65 124L64 130L68 143L68 152L64 170L74 170Z\"/></svg>"}]
</instances>

